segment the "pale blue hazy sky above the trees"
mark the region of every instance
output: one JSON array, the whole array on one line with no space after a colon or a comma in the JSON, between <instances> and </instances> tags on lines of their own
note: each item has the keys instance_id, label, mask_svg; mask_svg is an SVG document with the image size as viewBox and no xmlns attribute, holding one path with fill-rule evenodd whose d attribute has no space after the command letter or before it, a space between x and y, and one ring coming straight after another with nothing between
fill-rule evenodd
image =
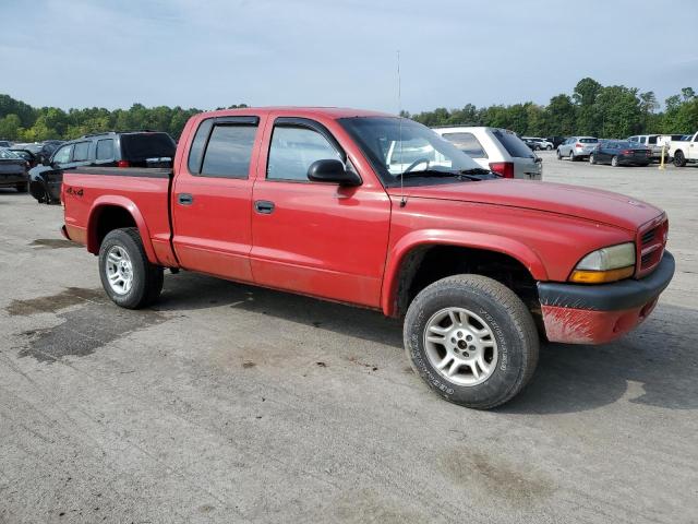
<instances>
[{"instance_id":1,"label":"pale blue hazy sky above the trees","mask_svg":"<svg viewBox=\"0 0 698 524\"><path fill-rule=\"evenodd\" d=\"M663 102L698 91L696 21L696 0L0 0L0 94L419 112L544 105L591 76Z\"/></svg>"}]
</instances>

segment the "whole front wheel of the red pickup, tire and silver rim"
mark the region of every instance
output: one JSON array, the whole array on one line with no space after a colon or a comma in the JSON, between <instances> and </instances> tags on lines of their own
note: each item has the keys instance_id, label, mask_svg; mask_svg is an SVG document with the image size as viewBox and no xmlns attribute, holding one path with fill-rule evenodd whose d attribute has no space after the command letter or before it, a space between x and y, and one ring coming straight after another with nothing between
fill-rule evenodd
<instances>
[{"instance_id":1,"label":"whole front wheel of the red pickup, tire and silver rim","mask_svg":"<svg viewBox=\"0 0 698 524\"><path fill-rule=\"evenodd\" d=\"M404 338L412 368L432 390L477 409L516 396L538 364L531 313L508 287L481 275L424 288L407 311Z\"/></svg>"}]
</instances>

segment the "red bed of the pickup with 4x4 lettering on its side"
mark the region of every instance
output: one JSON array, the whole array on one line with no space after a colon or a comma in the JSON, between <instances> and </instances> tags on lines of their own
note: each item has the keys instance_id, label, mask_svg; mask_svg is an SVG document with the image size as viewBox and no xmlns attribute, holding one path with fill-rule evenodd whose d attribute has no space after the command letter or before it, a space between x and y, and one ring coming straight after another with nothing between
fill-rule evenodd
<instances>
[{"instance_id":1,"label":"red bed of the pickup with 4x4 lettering on its side","mask_svg":"<svg viewBox=\"0 0 698 524\"><path fill-rule=\"evenodd\" d=\"M65 233L87 249L99 251L99 231L85 228L89 214L109 212L119 219L119 207L131 213L144 239L148 259L176 266L170 243L169 193L171 168L77 167L64 171L62 200ZM116 212L115 212L116 210ZM95 221L92 221L93 223Z\"/></svg>"}]
</instances>

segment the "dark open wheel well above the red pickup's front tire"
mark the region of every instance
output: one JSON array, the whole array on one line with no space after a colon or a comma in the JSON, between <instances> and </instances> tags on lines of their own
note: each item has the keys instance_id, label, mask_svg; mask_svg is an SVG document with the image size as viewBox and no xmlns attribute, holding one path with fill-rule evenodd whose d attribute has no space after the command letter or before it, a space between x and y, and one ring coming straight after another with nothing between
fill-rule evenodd
<instances>
[{"instance_id":1,"label":"dark open wheel well above the red pickup's front tire","mask_svg":"<svg viewBox=\"0 0 698 524\"><path fill-rule=\"evenodd\" d=\"M535 279L521 262L498 251L458 246L423 246L407 254L398 279L397 314L404 315L412 299L430 284L464 273L504 284L534 317L540 315Z\"/></svg>"}]
</instances>

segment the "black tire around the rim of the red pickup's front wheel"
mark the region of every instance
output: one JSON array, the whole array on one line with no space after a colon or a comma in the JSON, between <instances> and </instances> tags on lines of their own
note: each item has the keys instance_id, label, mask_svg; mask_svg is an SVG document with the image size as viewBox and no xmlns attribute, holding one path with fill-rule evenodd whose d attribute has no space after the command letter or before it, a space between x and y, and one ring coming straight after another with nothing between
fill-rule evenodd
<instances>
[{"instance_id":1,"label":"black tire around the rim of the red pickup's front wheel","mask_svg":"<svg viewBox=\"0 0 698 524\"><path fill-rule=\"evenodd\" d=\"M496 367L481 383L454 383L430 361L425 330L433 315L445 308L474 312L493 333ZM539 337L530 311L512 289L481 275L449 276L424 288L407 311L404 340L410 365L432 390L448 402L476 409L512 400L529 382L538 364Z\"/></svg>"}]
</instances>

